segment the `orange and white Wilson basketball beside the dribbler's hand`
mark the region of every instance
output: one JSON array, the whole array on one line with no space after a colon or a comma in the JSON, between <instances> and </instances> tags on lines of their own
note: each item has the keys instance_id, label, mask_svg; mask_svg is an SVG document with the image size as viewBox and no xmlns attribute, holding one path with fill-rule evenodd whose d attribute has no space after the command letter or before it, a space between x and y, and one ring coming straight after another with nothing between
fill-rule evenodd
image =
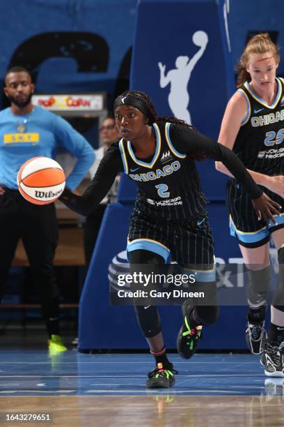
<instances>
[{"instance_id":1,"label":"orange and white Wilson basketball beside the dribbler's hand","mask_svg":"<svg viewBox=\"0 0 284 427\"><path fill-rule=\"evenodd\" d=\"M54 202L64 190L65 174L61 165L48 157L27 160L17 174L19 193L33 204Z\"/></svg>"}]
</instances>

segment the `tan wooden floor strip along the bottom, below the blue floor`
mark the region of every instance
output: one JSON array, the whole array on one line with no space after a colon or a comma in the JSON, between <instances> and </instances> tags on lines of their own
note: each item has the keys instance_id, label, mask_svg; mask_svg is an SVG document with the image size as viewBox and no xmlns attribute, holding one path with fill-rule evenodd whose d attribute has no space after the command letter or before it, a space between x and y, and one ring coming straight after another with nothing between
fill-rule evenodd
<instances>
[{"instance_id":1,"label":"tan wooden floor strip along the bottom, below the blue floor","mask_svg":"<svg viewBox=\"0 0 284 427\"><path fill-rule=\"evenodd\" d=\"M3 426L19 426L3 421L3 414L17 412L52 414L51 423L37 426L270 427L284 425L284 397L171 394L4 397L0 399L0 412Z\"/></svg>"}]
</instances>

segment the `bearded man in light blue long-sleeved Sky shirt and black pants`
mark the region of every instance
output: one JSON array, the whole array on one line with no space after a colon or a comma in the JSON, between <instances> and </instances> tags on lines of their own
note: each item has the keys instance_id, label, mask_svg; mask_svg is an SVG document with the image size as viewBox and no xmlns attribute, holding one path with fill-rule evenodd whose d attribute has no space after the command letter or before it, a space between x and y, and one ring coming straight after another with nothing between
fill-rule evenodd
<instances>
[{"instance_id":1,"label":"bearded man in light blue long-sleeved Sky shirt and black pants","mask_svg":"<svg viewBox=\"0 0 284 427\"><path fill-rule=\"evenodd\" d=\"M42 305L51 352L66 350L59 336L58 287L53 260L58 239L54 204L27 202L17 190L17 172L36 156L54 158L56 149L68 149L77 163L66 180L77 188L95 160L93 148L70 124L31 103L34 85L28 70L13 67L5 77L4 92L10 108L0 112L0 299L22 238Z\"/></svg>"}]
</instances>

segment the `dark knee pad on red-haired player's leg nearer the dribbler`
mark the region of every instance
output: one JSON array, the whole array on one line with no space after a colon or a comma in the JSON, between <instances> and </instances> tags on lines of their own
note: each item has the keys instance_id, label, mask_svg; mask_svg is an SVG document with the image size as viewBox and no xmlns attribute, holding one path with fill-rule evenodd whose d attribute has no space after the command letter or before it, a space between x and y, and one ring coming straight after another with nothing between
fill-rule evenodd
<instances>
[{"instance_id":1,"label":"dark knee pad on red-haired player's leg nearer the dribbler","mask_svg":"<svg viewBox=\"0 0 284 427\"><path fill-rule=\"evenodd\" d=\"M270 265L260 270L248 270L246 297L252 308L259 308L266 304L270 282Z\"/></svg>"}]
</instances>

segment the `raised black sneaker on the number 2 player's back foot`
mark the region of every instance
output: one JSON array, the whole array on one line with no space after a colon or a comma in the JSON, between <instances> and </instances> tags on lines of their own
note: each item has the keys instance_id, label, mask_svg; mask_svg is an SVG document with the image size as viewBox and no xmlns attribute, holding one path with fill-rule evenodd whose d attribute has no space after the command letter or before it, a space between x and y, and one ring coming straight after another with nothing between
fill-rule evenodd
<instances>
[{"instance_id":1,"label":"raised black sneaker on the number 2 player's back foot","mask_svg":"<svg viewBox=\"0 0 284 427\"><path fill-rule=\"evenodd\" d=\"M189 315L187 315L187 308L190 307L189 301L184 301L182 304L182 315L184 322L177 337L178 353L183 359L190 359L197 350L199 340L201 338L202 325L191 328L189 325ZM192 308L193 310L193 308Z\"/></svg>"}]
</instances>

